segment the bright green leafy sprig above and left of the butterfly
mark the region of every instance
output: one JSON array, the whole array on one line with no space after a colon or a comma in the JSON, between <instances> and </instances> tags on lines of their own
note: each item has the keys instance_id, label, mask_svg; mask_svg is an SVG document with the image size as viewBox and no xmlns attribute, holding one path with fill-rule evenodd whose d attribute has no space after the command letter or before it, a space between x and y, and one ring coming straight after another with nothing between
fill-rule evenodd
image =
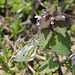
<instances>
[{"instance_id":1,"label":"bright green leafy sprig above and left of the butterfly","mask_svg":"<svg viewBox=\"0 0 75 75\"><path fill-rule=\"evenodd\" d=\"M22 32L24 30L24 28L21 28L22 24L21 24L21 20L17 19L13 26L11 27L11 29L13 30L12 34L10 35L9 38L12 38L15 34L18 34L20 32Z\"/></svg>"}]
</instances>

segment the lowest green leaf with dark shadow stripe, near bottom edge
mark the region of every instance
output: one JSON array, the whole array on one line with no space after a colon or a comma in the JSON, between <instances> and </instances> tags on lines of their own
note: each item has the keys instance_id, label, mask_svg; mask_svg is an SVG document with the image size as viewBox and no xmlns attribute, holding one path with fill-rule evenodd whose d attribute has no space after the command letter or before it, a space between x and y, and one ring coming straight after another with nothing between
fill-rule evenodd
<instances>
[{"instance_id":1,"label":"lowest green leaf with dark shadow stripe, near bottom edge","mask_svg":"<svg viewBox=\"0 0 75 75\"><path fill-rule=\"evenodd\" d=\"M53 57L47 60L38 70L40 73L54 72L59 67L58 63L53 62Z\"/></svg>"}]
</instances>

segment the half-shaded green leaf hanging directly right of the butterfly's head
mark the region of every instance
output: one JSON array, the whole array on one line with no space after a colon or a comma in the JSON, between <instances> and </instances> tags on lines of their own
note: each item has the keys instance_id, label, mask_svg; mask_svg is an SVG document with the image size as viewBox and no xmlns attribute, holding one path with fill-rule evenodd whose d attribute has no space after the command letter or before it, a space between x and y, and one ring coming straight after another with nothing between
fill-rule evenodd
<instances>
[{"instance_id":1,"label":"half-shaded green leaf hanging directly right of the butterfly's head","mask_svg":"<svg viewBox=\"0 0 75 75\"><path fill-rule=\"evenodd\" d=\"M42 29L39 30L39 44L40 44L40 49L44 49L45 46L47 45L48 41L52 37L52 31L50 29Z\"/></svg>"}]
</instances>

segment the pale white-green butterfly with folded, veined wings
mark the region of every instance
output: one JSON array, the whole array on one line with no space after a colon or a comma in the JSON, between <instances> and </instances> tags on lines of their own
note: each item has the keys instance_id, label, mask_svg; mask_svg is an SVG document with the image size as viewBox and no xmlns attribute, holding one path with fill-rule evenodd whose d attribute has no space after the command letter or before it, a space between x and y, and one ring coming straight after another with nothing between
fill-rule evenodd
<instances>
[{"instance_id":1,"label":"pale white-green butterfly with folded, veined wings","mask_svg":"<svg viewBox=\"0 0 75 75\"><path fill-rule=\"evenodd\" d=\"M22 62L22 61L31 61L34 59L38 46L38 40L35 38L28 44L26 44L21 51L16 55L15 61Z\"/></svg>"}]
</instances>

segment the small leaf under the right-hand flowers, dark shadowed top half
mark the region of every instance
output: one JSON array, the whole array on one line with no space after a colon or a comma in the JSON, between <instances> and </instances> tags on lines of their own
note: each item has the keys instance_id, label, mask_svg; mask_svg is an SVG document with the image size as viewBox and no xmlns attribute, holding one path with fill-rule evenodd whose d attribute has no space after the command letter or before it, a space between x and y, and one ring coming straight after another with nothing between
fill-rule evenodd
<instances>
[{"instance_id":1,"label":"small leaf under the right-hand flowers, dark shadowed top half","mask_svg":"<svg viewBox=\"0 0 75 75\"><path fill-rule=\"evenodd\" d=\"M56 22L55 28L53 28L53 30L66 37L66 23L64 21Z\"/></svg>"}]
</instances>

